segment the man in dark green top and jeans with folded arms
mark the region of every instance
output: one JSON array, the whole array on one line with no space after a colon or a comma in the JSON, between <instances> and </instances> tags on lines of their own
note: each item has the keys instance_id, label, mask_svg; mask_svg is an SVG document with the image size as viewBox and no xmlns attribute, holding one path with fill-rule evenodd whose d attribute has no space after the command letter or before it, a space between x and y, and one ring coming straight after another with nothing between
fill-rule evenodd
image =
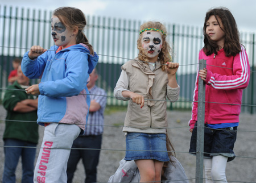
<instances>
[{"instance_id":1,"label":"man in dark green top and jeans with folded arms","mask_svg":"<svg viewBox=\"0 0 256 183\"><path fill-rule=\"evenodd\" d=\"M15 170L20 156L22 157L22 183L33 182L35 147L39 138L36 123L38 99L34 99L24 90L30 85L29 82L30 79L24 76L19 65L17 80L7 88L9 90L6 90L3 98L3 107L7 110L3 134L5 146L3 183L16 182Z\"/></svg>"}]
</instances>

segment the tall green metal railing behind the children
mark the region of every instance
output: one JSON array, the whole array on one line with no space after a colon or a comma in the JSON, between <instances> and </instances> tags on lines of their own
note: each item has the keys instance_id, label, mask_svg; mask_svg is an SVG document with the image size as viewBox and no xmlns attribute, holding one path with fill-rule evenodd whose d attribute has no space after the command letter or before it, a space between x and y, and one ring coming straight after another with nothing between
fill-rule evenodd
<instances>
[{"instance_id":1,"label":"tall green metal railing behind the children","mask_svg":"<svg viewBox=\"0 0 256 183\"><path fill-rule=\"evenodd\" d=\"M54 44L51 38L51 11L6 7L0 5L0 88L6 88L14 57L22 58L32 45L48 49ZM140 20L106 18L86 15L85 34L100 56L97 65L100 78L97 85L113 96L113 89L121 73L121 65L137 56L137 39ZM180 63L177 80L181 86L179 102L168 103L175 109L191 109L195 85L198 53L203 47L203 28L166 24L167 40L172 47L175 62ZM255 87L255 33L241 33L251 65L250 84L243 92L242 111L256 112ZM36 82L36 81L35 81ZM0 96L3 95L0 90ZM127 102L108 98L108 105L127 105Z\"/></svg>"}]
</instances>

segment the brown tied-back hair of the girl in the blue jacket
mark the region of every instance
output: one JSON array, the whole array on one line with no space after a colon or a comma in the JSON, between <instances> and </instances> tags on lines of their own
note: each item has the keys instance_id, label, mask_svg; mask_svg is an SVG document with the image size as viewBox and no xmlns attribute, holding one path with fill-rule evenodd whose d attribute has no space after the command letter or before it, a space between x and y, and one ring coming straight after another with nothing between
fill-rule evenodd
<instances>
[{"instance_id":1,"label":"brown tied-back hair of the girl in the blue jacket","mask_svg":"<svg viewBox=\"0 0 256 183\"><path fill-rule=\"evenodd\" d=\"M79 32L76 36L76 44L83 43L89 47L91 55L94 55L93 47L89 44L88 39L84 34L84 28L86 26L86 19L84 13L75 7L59 7L53 11L53 15L60 19L68 28L78 27Z\"/></svg>"}]
</instances>

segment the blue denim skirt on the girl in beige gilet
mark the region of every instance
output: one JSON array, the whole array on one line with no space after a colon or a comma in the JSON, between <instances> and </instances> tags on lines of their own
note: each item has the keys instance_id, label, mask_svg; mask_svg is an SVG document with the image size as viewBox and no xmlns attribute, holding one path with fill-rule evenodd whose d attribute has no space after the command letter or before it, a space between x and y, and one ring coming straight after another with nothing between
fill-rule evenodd
<instances>
[{"instance_id":1,"label":"blue denim skirt on the girl in beige gilet","mask_svg":"<svg viewBox=\"0 0 256 183\"><path fill-rule=\"evenodd\" d=\"M166 134L128 132L125 160L141 159L170 161L166 148Z\"/></svg>"}]
</instances>

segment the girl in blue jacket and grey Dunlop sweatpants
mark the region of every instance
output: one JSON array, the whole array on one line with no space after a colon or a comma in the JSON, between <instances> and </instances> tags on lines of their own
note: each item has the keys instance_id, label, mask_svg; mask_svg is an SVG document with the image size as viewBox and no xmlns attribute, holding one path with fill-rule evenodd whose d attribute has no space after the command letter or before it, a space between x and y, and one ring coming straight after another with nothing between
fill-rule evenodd
<instances>
[{"instance_id":1,"label":"girl in blue jacket and grey Dunlop sweatpants","mask_svg":"<svg viewBox=\"0 0 256 183\"><path fill-rule=\"evenodd\" d=\"M81 10L60 7L51 18L55 45L48 51L34 45L23 56L23 73L42 79L26 89L39 95L38 124L45 126L34 182L67 182L70 148L85 129L90 105L86 82L98 61L82 32L85 26Z\"/></svg>"}]
</instances>

